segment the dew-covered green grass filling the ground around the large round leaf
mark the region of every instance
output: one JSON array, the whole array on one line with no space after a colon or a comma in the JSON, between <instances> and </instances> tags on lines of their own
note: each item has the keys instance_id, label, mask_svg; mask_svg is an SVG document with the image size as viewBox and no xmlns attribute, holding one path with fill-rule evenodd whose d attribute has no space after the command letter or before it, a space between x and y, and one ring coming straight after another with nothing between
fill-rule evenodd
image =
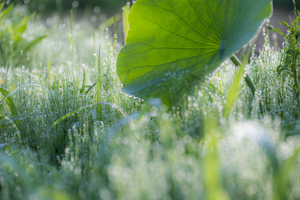
<instances>
[{"instance_id":1,"label":"dew-covered green grass filling the ground around the large round leaf","mask_svg":"<svg viewBox=\"0 0 300 200\"><path fill-rule=\"evenodd\" d=\"M12 6L3 30L26 10ZM268 32L246 66L256 96L226 60L167 107L120 92L122 30L53 13L28 18L19 40L1 35L2 99L14 91L0 104L1 199L300 197L298 99L277 75L286 54Z\"/></svg>"}]
</instances>

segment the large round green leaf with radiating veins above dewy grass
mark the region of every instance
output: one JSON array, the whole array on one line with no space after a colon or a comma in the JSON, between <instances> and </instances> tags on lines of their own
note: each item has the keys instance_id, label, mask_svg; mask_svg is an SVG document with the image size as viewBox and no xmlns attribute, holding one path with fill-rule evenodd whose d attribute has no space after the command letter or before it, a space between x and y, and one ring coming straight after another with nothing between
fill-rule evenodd
<instances>
[{"instance_id":1,"label":"large round green leaf with radiating veins above dewy grass","mask_svg":"<svg viewBox=\"0 0 300 200\"><path fill-rule=\"evenodd\" d=\"M256 35L271 11L271 0L137 0L117 58L122 90L166 96L174 84L204 80Z\"/></svg>"}]
</instances>

